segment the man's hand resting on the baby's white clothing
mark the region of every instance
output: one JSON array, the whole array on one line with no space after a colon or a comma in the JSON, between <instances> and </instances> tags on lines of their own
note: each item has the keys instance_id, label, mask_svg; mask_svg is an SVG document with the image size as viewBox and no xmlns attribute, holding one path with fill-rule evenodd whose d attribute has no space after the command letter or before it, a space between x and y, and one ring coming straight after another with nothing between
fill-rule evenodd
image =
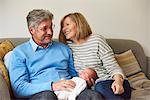
<instances>
[{"instance_id":1,"label":"man's hand resting on the baby's white clothing","mask_svg":"<svg viewBox=\"0 0 150 100\"><path fill-rule=\"evenodd\" d=\"M52 89L53 91L57 91L57 90L70 91L71 89L74 89L75 86L76 84L72 80L60 80L52 84Z\"/></svg>"}]
</instances>

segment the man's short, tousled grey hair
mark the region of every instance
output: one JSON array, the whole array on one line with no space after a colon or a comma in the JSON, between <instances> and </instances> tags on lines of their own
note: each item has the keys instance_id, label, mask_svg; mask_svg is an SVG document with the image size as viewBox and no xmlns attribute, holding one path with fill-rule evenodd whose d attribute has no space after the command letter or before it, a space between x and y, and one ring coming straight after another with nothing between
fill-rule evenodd
<instances>
[{"instance_id":1,"label":"man's short, tousled grey hair","mask_svg":"<svg viewBox=\"0 0 150 100\"><path fill-rule=\"evenodd\" d=\"M44 9L34 9L29 12L29 14L26 17L27 19L27 25L29 27L38 27L38 25L44 21L44 20L53 20L53 14Z\"/></svg>"}]
</instances>

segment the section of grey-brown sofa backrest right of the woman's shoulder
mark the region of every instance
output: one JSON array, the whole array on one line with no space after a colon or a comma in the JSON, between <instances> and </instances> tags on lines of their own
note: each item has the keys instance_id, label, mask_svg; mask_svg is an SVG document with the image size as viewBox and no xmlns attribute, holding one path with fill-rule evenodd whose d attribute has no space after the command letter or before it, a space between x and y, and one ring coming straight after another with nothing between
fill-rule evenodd
<instances>
[{"instance_id":1,"label":"section of grey-brown sofa backrest right of the woman's shoulder","mask_svg":"<svg viewBox=\"0 0 150 100\"><path fill-rule=\"evenodd\" d=\"M147 58L142 46L138 42L127 39L107 39L107 43L112 47L114 53L116 54L120 54L131 49L139 65L141 66L142 71L145 74L148 74Z\"/></svg>"}]
</instances>

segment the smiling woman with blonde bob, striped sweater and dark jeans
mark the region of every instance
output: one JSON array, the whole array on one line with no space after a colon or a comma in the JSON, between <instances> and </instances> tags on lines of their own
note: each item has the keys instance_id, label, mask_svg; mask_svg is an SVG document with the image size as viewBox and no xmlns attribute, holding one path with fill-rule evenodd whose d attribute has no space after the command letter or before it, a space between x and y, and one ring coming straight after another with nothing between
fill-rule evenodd
<instances>
[{"instance_id":1,"label":"smiling woman with blonde bob, striped sweater and dark jeans","mask_svg":"<svg viewBox=\"0 0 150 100\"><path fill-rule=\"evenodd\" d=\"M93 34L81 13L70 13L61 20L59 40L69 45L77 71L87 67L95 69L99 79L95 91L105 99L129 99L131 88L122 69L114 58L111 47L100 34ZM88 84L93 79L87 77Z\"/></svg>"}]
</instances>

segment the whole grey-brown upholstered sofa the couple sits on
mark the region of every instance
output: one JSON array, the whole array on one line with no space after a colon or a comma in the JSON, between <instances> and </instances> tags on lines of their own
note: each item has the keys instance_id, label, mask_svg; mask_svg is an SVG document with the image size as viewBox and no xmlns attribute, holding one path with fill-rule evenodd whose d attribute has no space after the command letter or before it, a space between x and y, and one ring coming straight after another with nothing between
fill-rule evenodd
<instances>
[{"instance_id":1,"label":"whole grey-brown upholstered sofa the couple sits on","mask_svg":"<svg viewBox=\"0 0 150 100\"><path fill-rule=\"evenodd\" d=\"M29 38L0 38L0 42L4 40L9 40L14 46L17 46ZM142 72L145 73L148 79L150 79L150 57L147 57L143 51L142 46L133 40L127 39L106 39L108 44L112 47L115 54L123 53L127 50L132 50L135 55L139 65L141 66ZM149 85L150 87L150 85ZM150 88L140 88L138 90L132 90L132 100L149 100L150 98ZM10 100L8 87L5 80L0 74L0 100Z\"/></svg>"}]
</instances>

